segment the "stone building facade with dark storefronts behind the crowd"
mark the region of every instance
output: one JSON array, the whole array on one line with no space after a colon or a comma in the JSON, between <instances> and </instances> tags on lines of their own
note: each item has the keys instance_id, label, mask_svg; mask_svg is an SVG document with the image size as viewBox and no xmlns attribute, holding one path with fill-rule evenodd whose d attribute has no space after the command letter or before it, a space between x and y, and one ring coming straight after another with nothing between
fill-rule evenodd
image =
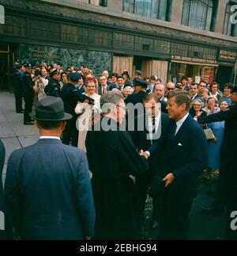
<instances>
[{"instance_id":1,"label":"stone building facade with dark storefronts behind the crowd","mask_svg":"<svg viewBox=\"0 0 237 256\"><path fill-rule=\"evenodd\" d=\"M20 62L87 64L163 82L190 76L237 83L237 25L229 0L1 0L1 87ZM236 8L237 10L237 8Z\"/></svg>"}]
</instances>

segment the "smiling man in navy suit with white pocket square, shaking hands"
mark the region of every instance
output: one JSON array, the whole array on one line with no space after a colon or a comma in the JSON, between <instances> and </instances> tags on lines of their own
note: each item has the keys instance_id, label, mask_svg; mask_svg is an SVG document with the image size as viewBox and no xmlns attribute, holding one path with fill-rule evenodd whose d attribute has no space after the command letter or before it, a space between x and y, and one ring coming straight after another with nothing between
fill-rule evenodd
<instances>
[{"instance_id":1,"label":"smiling man in navy suit with white pocket square, shaking hands","mask_svg":"<svg viewBox=\"0 0 237 256\"><path fill-rule=\"evenodd\" d=\"M159 238L188 239L189 212L197 195L198 174L208 166L208 147L201 125L189 115L189 93L172 90L167 98L171 118L167 133L141 154L160 155L156 176L163 178L166 188L160 211Z\"/></svg>"}]
</instances>

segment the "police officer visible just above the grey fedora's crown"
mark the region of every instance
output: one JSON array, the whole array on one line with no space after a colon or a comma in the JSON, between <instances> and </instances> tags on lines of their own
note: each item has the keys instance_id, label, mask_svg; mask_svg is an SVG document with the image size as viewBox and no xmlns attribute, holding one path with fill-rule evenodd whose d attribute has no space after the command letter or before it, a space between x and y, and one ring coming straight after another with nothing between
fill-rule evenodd
<instances>
[{"instance_id":1,"label":"police officer visible just above the grey fedora's crown","mask_svg":"<svg viewBox=\"0 0 237 256\"><path fill-rule=\"evenodd\" d=\"M47 96L60 97L60 71L58 71L58 69L53 69L50 76L51 78L49 79L49 82L45 87L44 92Z\"/></svg>"}]
</instances>

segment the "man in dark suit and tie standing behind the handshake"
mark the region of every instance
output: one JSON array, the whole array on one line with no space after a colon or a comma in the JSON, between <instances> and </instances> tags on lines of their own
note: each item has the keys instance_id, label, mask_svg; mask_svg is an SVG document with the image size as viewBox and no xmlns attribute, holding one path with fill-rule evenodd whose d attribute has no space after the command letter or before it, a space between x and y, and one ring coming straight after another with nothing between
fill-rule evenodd
<instances>
[{"instance_id":1,"label":"man in dark suit and tie standing behind the handshake","mask_svg":"<svg viewBox=\"0 0 237 256\"><path fill-rule=\"evenodd\" d=\"M155 143L156 139L160 138L161 132L166 132L167 124L169 122L167 114L161 113L159 97L155 94L149 94L145 97L144 105L146 113L135 118L135 129L134 131L129 131L130 136L137 147L137 151L140 151L141 149L146 151L153 143ZM139 219L141 220L141 225L144 223L145 201L149 185L154 177L157 164L159 164L159 160L156 157L151 157L149 159L149 171L136 178L138 194L137 211ZM156 198L153 198L153 227L156 227L156 224L158 223L158 204Z\"/></svg>"}]
</instances>

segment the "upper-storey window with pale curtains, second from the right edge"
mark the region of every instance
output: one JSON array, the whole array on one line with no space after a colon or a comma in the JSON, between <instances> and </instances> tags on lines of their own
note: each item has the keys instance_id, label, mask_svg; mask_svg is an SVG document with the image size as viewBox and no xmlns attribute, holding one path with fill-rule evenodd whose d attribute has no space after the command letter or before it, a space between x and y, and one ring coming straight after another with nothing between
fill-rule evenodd
<instances>
[{"instance_id":1,"label":"upper-storey window with pale curtains, second from the right edge","mask_svg":"<svg viewBox=\"0 0 237 256\"><path fill-rule=\"evenodd\" d=\"M215 0L184 0L182 25L214 31L217 2Z\"/></svg>"}]
</instances>

